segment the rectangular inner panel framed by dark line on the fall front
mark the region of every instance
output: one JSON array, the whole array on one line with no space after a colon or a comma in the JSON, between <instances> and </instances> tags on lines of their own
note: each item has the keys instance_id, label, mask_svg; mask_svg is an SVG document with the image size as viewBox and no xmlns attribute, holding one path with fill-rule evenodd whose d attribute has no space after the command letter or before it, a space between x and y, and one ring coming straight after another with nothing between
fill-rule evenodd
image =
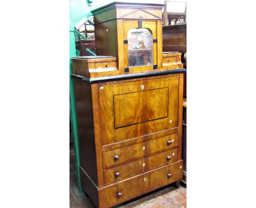
<instances>
[{"instance_id":1,"label":"rectangular inner panel framed by dark line on the fall front","mask_svg":"<svg viewBox=\"0 0 256 208\"><path fill-rule=\"evenodd\" d=\"M114 95L115 129L166 117L168 88Z\"/></svg>"}]
</instances>

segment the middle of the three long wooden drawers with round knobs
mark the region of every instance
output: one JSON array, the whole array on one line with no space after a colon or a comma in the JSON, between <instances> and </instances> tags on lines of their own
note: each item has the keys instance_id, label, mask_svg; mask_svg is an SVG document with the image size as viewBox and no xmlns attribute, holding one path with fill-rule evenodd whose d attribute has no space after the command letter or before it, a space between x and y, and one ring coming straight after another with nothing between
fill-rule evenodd
<instances>
[{"instance_id":1,"label":"middle of the three long wooden drawers with round knobs","mask_svg":"<svg viewBox=\"0 0 256 208\"><path fill-rule=\"evenodd\" d=\"M165 166L166 164L171 164L177 161L177 156L178 148L104 170L104 183L108 185L109 183L117 182L133 175Z\"/></svg>"}]
</instances>

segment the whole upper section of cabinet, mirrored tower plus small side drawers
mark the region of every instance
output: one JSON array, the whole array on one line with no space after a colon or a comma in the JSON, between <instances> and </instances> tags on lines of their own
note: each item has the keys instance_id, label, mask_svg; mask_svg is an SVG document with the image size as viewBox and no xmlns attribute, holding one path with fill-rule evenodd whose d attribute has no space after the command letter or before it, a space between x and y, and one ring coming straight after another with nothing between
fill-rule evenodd
<instances>
[{"instance_id":1,"label":"whole upper section of cabinet, mirrored tower plus small side drawers","mask_svg":"<svg viewBox=\"0 0 256 208\"><path fill-rule=\"evenodd\" d=\"M74 57L73 74L97 82L100 77L106 80L183 68L181 53L162 54L163 7L113 2L92 10L97 56Z\"/></svg>"}]
</instances>

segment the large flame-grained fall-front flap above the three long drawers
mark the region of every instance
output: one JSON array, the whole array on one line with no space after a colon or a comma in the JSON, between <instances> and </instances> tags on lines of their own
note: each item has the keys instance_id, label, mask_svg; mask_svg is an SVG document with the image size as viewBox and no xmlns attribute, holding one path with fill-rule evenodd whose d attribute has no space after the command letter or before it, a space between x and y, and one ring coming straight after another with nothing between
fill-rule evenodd
<instances>
[{"instance_id":1,"label":"large flame-grained fall-front flap above the three long drawers","mask_svg":"<svg viewBox=\"0 0 256 208\"><path fill-rule=\"evenodd\" d=\"M179 75L98 84L102 145L178 126Z\"/></svg>"}]
</instances>

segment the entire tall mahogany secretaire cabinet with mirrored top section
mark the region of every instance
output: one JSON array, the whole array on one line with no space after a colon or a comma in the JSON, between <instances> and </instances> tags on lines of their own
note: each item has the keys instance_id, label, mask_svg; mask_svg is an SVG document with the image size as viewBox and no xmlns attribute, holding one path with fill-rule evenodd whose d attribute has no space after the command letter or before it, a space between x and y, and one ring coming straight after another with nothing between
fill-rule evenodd
<instances>
[{"instance_id":1,"label":"entire tall mahogany secretaire cabinet with mirrored top section","mask_svg":"<svg viewBox=\"0 0 256 208\"><path fill-rule=\"evenodd\" d=\"M185 69L181 53L162 54L162 6L112 3L92 11L100 56L72 58L80 175L96 207L112 207L183 176ZM112 35L101 36L102 28Z\"/></svg>"}]
</instances>

